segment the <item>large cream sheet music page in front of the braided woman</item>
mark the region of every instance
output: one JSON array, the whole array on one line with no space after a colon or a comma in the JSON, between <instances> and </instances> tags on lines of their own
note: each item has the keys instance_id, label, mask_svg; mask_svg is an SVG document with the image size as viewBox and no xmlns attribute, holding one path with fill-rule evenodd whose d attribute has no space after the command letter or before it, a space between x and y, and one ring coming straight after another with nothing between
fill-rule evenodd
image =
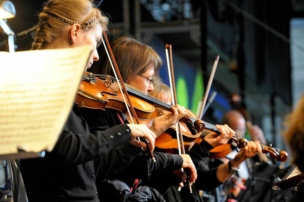
<instances>
[{"instance_id":1,"label":"large cream sheet music page in front of the braided woman","mask_svg":"<svg viewBox=\"0 0 304 202\"><path fill-rule=\"evenodd\" d=\"M0 52L0 154L53 149L91 51Z\"/></svg>"}]
</instances>

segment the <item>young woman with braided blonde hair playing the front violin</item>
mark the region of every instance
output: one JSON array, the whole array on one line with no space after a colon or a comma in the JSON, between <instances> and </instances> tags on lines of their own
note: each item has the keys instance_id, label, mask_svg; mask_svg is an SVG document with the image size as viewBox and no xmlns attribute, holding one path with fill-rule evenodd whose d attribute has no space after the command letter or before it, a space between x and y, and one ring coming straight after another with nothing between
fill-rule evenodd
<instances>
[{"instance_id":1,"label":"young woman with braided blonde hair playing the front violin","mask_svg":"<svg viewBox=\"0 0 304 202\"><path fill-rule=\"evenodd\" d=\"M108 18L89 0L49 0L39 15L33 50L92 45L95 49L87 68L99 59L96 46L107 28ZM127 143L134 149L146 144L135 140L145 137L154 149L154 133L145 125L117 124L103 131L89 132L87 122L74 106L52 152L44 158L22 160L21 172L29 201L99 201L95 186L93 159ZM128 143L130 142L130 143ZM125 167L131 155L112 153L107 174ZM102 165L103 166L103 165Z\"/></svg>"}]
</instances>

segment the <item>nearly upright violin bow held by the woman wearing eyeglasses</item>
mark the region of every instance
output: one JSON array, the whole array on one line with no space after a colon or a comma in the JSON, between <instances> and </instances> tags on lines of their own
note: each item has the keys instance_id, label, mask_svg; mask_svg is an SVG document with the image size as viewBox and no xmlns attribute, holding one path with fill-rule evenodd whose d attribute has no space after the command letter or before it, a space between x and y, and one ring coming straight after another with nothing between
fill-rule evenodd
<instances>
[{"instance_id":1,"label":"nearly upright violin bow held by the woman wearing eyeglasses","mask_svg":"<svg viewBox=\"0 0 304 202\"><path fill-rule=\"evenodd\" d=\"M168 48L170 51L170 63L169 63L169 54L168 54ZM173 59L172 59L172 46L171 44L168 45L166 44L166 57L167 57L167 66L168 66L168 74L169 74L169 81L170 81L170 88L171 88L171 96L172 96L172 105L177 104L177 96L176 96L176 88L175 88L175 80L174 80L174 71L173 71ZM186 154L185 152L185 147L184 147L184 141L183 141L183 135L181 132L181 123L178 122L175 124L176 126L176 137L177 137L177 142L178 142L178 152L179 154ZM181 169L183 172L184 170ZM190 183L190 179L189 179L189 172L188 170L186 170L186 174L187 174L187 183L188 183L188 187L189 187L189 191L190 193L192 193L192 187L191 187L191 183ZM178 190L180 190L180 188L178 188Z\"/></svg>"}]
</instances>

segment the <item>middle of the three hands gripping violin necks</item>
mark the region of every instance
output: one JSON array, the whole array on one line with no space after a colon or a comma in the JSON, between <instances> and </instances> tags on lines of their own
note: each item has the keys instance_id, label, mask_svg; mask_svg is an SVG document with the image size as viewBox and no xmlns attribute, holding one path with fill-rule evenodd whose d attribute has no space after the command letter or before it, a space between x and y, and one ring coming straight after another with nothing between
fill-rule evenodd
<instances>
[{"instance_id":1,"label":"middle of the three hands gripping violin necks","mask_svg":"<svg viewBox=\"0 0 304 202\"><path fill-rule=\"evenodd\" d=\"M213 147L227 144L230 138L235 135L235 132L227 124L215 126L221 131L221 134L218 135L215 132L211 132L204 137L204 140L206 140Z\"/></svg>"}]
</instances>

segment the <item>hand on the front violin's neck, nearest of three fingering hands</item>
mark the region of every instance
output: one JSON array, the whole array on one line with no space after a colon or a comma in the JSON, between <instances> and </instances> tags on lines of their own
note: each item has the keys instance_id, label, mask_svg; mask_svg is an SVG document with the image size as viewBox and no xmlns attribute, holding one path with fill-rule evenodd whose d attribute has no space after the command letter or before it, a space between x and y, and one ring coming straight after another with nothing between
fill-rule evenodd
<instances>
[{"instance_id":1,"label":"hand on the front violin's neck, nearest of three fingering hands","mask_svg":"<svg viewBox=\"0 0 304 202\"><path fill-rule=\"evenodd\" d=\"M161 115L154 119L150 129L155 133L157 137L161 135L162 132L167 130L170 126L176 124L182 117L188 114L185 107L179 104L172 106L172 111L173 113L164 113L164 115Z\"/></svg>"}]
</instances>

